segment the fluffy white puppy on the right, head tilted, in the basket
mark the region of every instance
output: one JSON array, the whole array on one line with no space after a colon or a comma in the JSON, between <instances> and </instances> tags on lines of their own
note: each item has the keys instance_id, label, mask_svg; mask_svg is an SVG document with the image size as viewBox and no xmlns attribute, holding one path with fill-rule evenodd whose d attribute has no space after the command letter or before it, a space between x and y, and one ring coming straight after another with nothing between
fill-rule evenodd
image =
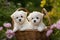
<instances>
[{"instance_id":1,"label":"fluffy white puppy on the right, head tilted, in the basket","mask_svg":"<svg viewBox=\"0 0 60 40\"><path fill-rule=\"evenodd\" d=\"M41 32L47 28L45 24L43 23L43 16L44 14L37 11L30 13L30 15L28 16L28 20L33 30L37 29L38 31Z\"/></svg>"}]
</instances>

